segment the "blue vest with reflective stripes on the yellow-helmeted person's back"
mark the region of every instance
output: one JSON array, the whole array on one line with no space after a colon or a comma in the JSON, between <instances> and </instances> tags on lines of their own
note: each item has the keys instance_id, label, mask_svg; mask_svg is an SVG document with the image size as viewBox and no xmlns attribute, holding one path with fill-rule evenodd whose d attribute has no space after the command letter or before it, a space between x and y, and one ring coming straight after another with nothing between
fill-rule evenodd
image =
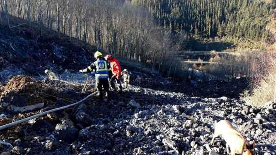
<instances>
[{"instance_id":1,"label":"blue vest with reflective stripes on the yellow-helmeted person's back","mask_svg":"<svg viewBox=\"0 0 276 155\"><path fill-rule=\"evenodd\" d=\"M108 69L107 69L107 63L104 60L97 60L96 61L96 78L99 79L108 79Z\"/></svg>"}]
</instances>

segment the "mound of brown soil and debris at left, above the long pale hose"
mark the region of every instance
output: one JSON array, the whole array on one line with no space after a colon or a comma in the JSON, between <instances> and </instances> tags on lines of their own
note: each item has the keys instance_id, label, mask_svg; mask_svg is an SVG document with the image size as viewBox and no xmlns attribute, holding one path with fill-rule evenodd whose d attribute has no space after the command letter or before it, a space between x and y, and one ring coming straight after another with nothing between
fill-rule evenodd
<instances>
[{"instance_id":1,"label":"mound of brown soil and debris at left, above the long pale hose","mask_svg":"<svg viewBox=\"0 0 276 155\"><path fill-rule=\"evenodd\" d=\"M86 88L83 92L84 87ZM3 87L1 106L25 107L43 104L43 106L62 106L66 101L79 99L93 90L93 85L65 83L63 81L35 80L33 77L17 75Z\"/></svg>"}]
</instances>

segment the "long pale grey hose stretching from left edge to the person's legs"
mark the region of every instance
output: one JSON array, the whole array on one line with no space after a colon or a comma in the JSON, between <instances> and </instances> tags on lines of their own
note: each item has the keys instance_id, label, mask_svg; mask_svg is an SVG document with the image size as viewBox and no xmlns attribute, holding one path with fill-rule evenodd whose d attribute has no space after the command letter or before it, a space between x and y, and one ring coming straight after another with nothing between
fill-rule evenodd
<instances>
[{"instance_id":1,"label":"long pale grey hose stretching from left edge to the person's legs","mask_svg":"<svg viewBox=\"0 0 276 155\"><path fill-rule=\"evenodd\" d=\"M22 119L22 120L18 120L18 121L15 121L15 122L12 122L12 123L3 125L3 126L0 127L0 130L6 129L6 128L8 128L8 127L12 127L12 126L14 126L14 125L16 125L16 124L23 123L23 122L25 122L25 121L29 121L29 120L34 119L34 118L36 118L36 117L40 117L40 116L46 115L46 114L48 114L48 113L50 113L50 112L55 112L55 111L59 111L59 110L62 110L62 109L66 109L66 108L69 108L69 107L72 107L72 106L76 106L76 105L78 105L78 104L84 102L85 100L87 100L89 97L95 95L97 92L98 92L98 91L93 92L92 94L86 96L84 99L82 99L81 101L78 101L78 102L76 102L76 103L73 103L73 104L70 104L70 105L67 105L67 106L62 106L62 107L59 107L59 108L55 108L55 109L52 109L52 110L49 110L49 111L45 111L45 112L42 112L42 113L40 113L40 114L36 114L36 115L34 115L34 116L30 116L30 117L24 118L24 119Z\"/></svg>"}]
</instances>

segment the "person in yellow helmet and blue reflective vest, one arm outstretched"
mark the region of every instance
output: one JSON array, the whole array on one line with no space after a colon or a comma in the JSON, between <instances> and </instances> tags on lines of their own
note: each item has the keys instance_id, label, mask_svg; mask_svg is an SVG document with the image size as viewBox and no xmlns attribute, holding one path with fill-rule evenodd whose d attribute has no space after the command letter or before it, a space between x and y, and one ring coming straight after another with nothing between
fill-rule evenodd
<instances>
[{"instance_id":1,"label":"person in yellow helmet and blue reflective vest, one arm outstretched","mask_svg":"<svg viewBox=\"0 0 276 155\"><path fill-rule=\"evenodd\" d=\"M106 96L109 97L109 69L110 64L105 61L103 54L99 51L95 52L94 54L95 62L93 62L90 66L86 69L79 70L81 73L89 73L95 70L95 77L96 77L96 87L99 92L100 100L103 102L104 93L102 92L102 87L104 87L104 91Z\"/></svg>"}]
</instances>

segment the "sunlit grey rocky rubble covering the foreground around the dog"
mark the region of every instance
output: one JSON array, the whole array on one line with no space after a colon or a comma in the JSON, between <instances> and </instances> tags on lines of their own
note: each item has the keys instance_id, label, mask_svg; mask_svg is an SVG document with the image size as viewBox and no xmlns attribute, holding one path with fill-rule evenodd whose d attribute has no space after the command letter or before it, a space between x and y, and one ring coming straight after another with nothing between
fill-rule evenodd
<instances>
[{"instance_id":1,"label":"sunlit grey rocky rubble covering the foreground around the dog","mask_svg":"<svg viewBox=\"0 0 276 155\"><path fill-rule=\"evenodd\" d=\"M74 91L78 95L73 93L72 99L86 95L80 91ZM136 86L122 94L112 92L112 96L104 105L95 96L80 106L1 131L5 135L0 137L2 142L12 147L3 145L0 151L53 155L226 154L221 138L215 139L214 146L209 144L214 121L226 119L249 142L256 142L258 154L276 153L275 103L252 107L227 97L189 97Z\"/></svg>"}]
</instances>

